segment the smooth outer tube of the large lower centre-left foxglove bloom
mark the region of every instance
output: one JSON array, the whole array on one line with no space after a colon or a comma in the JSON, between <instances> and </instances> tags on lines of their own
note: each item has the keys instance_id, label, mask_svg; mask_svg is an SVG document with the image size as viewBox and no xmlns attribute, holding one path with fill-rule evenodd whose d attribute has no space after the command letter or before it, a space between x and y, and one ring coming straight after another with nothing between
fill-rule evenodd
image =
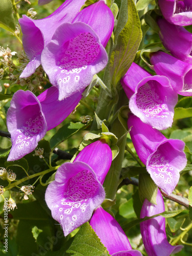
<instances>
[{"instance_id":1,"label":"smooth outer tube of the large lower centre-left foxglove bloom","mask_svg":"<svg viewBox=\"0 0 192 256\"><path fill-rule=\"evenodd\" d=\"M112 151L105 141L97 140L84 147L75 158L74 162L76 161L87 163L94 170L98 181L103 184L112 163Z\"/></svg>"}]
</instances>

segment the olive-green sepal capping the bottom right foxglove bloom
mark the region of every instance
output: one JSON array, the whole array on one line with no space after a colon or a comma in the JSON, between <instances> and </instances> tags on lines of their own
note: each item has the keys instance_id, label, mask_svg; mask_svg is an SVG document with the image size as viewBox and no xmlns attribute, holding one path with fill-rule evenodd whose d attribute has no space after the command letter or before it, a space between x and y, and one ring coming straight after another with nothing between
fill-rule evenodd
<instances>
[{"instance_id":1,"label":"olive-green sepal capping the bottom right foxglove bloom","mask_svg":"<svg viewBox=\"0 0 192 256\"><path fill-rule=\"evenodd\" d=\"M139 197L141 202L144 202L145 198L152 204L156 203L158 187L152 180L149 174L139 175Z\"/></svg>"}]
</instances>

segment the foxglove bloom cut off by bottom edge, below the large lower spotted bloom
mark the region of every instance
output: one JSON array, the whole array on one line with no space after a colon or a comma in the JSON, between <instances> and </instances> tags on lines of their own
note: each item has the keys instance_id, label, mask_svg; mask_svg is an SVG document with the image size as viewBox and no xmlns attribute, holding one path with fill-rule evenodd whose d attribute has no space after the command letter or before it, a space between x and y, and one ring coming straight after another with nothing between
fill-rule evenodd
<instances>
[{"instance_id":1,"label":"foxglove bloom cut off by bottom edge, below the large lower spotted bloom","mask_svg":"<svg viewBox=\"0 0 192 256\"><path fill-rule=\"evenodd\" d=\"M132 250L131 244L119 223L101 206L95 211L90 225L112 256L142 256L140 251Z\"/></svg>"}]
</instances>

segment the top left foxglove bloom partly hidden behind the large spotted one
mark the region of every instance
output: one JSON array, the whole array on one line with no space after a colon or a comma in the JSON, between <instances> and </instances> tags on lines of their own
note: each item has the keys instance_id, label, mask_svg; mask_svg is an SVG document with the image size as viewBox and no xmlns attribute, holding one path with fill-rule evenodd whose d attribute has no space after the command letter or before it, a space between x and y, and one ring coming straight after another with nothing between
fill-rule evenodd
<instances>
[{"instance_id":1,"label":"top left foxglove bloom partly hidden behind the large spotted one","mask_svg":"<svg viewBox=\"0 0 192 256\"><path fill-rule=\"evenodd\" d=\"M71 23L84 2L85 0L66 0L65 3L46 18L32 19L23 15L19 19L23 33L24 50L30 59L27 67L20 75L21 78L29 77L35 72L35 69L40 65L41 52L48 42L51 41L56 28L65 22Z\"/></svg>"}]
</instances>

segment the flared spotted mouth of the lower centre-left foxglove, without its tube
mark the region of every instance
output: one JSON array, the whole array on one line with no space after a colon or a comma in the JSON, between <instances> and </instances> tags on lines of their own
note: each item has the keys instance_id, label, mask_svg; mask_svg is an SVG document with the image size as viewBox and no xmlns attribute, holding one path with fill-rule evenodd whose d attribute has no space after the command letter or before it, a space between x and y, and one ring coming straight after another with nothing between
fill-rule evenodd
<instances>
[{"instance_id":1,"label":"flared spotted mouth of the lower centre-left foxglove, without its tube","mask_svg":"<svg viewBox=\"0 0 192 256\"><path fill-rule=\"evenodd\" d=\"M89 221L104 198L104 188L92 168L83 162L62 164L45 194L52 217L60 223L65 236Z\"/></svg>"}]
</instances>

